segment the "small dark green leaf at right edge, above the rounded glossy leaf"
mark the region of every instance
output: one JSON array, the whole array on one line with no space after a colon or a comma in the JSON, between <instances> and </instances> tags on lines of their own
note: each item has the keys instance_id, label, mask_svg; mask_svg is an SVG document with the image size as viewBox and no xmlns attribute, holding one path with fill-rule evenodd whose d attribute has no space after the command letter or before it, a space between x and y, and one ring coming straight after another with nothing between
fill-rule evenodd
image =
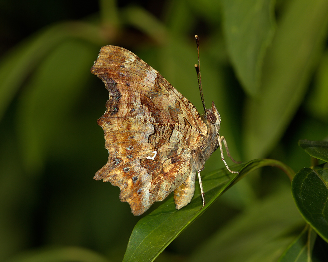
<instances>
[{"instance_id":1,"label":"small dark green leaf at right edge, above the rounded glossy leaf","mask_svg":"<svg viewBox=\"0 0 328 262\"><path fill-rule=\"evenodd\" d=\"M299 140L298 145L310 156L328 162L328 142Z\"/></svg>"}]
</instances>

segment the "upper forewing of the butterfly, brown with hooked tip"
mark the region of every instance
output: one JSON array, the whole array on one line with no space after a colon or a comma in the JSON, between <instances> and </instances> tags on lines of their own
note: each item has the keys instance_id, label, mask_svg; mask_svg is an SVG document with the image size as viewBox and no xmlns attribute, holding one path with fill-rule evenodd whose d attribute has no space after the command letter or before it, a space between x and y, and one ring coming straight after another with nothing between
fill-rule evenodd
<instances>
[{"instance_id":1,"label":"upper forewing of the butterfly, brown with hooked tip","mask_svg":"<svg viewBox=\"0 0 328 262\"><path fill-rule=\"evenodd\" d=\"M113 118L111 122L133 117L151 123L184 123L206 135L206 125L194 105L129 50L102 47L91 72L110 92L103 117Z\"/></svg>"}]
</instances>

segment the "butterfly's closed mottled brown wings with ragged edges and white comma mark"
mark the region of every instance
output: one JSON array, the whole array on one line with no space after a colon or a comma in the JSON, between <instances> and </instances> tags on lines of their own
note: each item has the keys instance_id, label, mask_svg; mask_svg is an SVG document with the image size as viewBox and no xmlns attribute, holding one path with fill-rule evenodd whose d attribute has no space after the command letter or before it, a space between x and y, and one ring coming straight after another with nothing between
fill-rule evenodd
<instances>
[{"instance_id":1,"label":"butterfly's closed mottled brown wings with ragged edges and white comma mark","mask_svg":"<svg viewBox=\"0 0 328 262\"><path fill-rule=\"evenodd\" d=\"M109 91L98 119L109 151L94 179L121 190L134 215L144 213L192 172L192 151L207 128L197 110L156 70L117 46L102 47L91 68Z\"/></svg>"}]
</instances>

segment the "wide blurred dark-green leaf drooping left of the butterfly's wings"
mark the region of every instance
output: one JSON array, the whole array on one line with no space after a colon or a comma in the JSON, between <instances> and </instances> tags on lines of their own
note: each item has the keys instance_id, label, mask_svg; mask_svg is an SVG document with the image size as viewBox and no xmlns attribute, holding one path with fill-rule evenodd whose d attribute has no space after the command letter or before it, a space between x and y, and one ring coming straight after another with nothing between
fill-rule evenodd
<instances>
[{"instance_id":1,"label":"wide blurred dark-green leaf drooping left of the butterfly's wings","mask_svg":"<svg viewBox=\"0 0 328 262\"><path fill-rule=\"evenodd\" d=\"M86 88L95 50L77 40L62 43L44 59L22 92L16 125L29 172L39 171L58 145L70 144L64 138L74 132L70 123L78 113L72 112L79 111L74 106Z\"/></svg>"}]
</instances>

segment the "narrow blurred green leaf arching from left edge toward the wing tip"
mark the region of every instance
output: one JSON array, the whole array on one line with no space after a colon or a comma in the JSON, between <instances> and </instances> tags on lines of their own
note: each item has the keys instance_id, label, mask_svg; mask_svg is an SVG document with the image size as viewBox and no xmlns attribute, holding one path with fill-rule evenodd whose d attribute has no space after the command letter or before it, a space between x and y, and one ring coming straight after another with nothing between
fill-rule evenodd
<instances>
[{"instance_id":1,"label":"narrow blurred green leaf arching from left edge toward the wing tip","mask_svg":"<svg viewBox=\"0 0 328 262\"><path fill-rule=\"evenodd\" d=\"M104 42L98 27L83 22L59 23L26 39L0 62L0 120L27 77L56 46L69 38Z\"/></svg>"}]
</instances>

